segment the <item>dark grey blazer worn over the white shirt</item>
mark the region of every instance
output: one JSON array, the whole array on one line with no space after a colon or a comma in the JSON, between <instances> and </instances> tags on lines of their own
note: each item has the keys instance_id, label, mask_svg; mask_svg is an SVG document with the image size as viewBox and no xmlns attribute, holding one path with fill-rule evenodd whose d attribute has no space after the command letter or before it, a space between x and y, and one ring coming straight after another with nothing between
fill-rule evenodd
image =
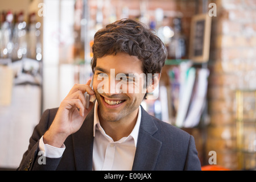
<instances>
[{"instance_id":1,"label":"dark grey blazer worn over the white shirt","mask_svg":"<svg viewBox=\"0 0 256 182\"><path fill-rule=\"evenodd\" d=\"M79 131L64 142L66 148L61 158L46 158L39 164L39 139L51 125L57 109L44 111L36 125L28 150L24 153L18 170L92 170L93 117L90 111ZM149 115L142 108L141 126L135 152L133 170L201 170L192 135Z\"/></svg>"}]
</instances>

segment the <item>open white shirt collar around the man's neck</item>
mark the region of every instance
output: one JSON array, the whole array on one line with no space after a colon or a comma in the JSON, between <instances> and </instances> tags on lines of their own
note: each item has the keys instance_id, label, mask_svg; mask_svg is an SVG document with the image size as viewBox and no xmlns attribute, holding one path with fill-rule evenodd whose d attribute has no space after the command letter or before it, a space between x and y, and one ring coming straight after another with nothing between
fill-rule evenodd
<instances>
[{"instance_id":1,"label":"open white shirt collar around the man's neck","mask_svg":"<svg viewBox=\"0 0 256 182\"><path fill-rule=\"evenodd\" d=\"M98 102L97 102L97 100L95 102L95 107L94 107L94 121L93 122L94 122L93 123L93 137L95 137L96 126L98 125L98 127L101 127L100 120L98 119ZM141 106L139 106L139 113L138 113L136 124L133 128L133 131L131 131L130 135L127 137L127 138L129 138L130 136L133 137L135 147L137 147L137 140L138 140L140 125L141 125Z\"/></svg>"}]
</instances>

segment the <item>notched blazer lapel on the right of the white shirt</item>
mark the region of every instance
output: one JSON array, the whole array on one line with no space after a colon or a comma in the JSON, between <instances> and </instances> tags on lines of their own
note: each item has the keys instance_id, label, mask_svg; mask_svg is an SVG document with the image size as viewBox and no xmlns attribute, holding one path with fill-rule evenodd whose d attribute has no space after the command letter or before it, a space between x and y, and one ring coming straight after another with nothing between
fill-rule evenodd
<instances>
[{"instance_id":1,"label":"notched blazer lapel on the right of the white shirt","mask_svg":"<svg viewBox=\"0 0 256 182\"><path fill-rule=\"evenodd\" d=\"M141 110L141 126L139 128L137 149L132 170L152 171L155 168L162 142L153 137L158 130L154 121L142 107Z\"/></svg>"}]
</instances>

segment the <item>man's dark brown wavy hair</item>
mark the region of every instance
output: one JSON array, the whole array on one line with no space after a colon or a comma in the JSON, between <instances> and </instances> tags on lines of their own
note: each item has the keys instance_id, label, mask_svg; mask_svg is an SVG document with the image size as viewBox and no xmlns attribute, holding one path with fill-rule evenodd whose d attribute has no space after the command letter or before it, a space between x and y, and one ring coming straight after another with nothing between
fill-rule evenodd
<instances>
[{"instance_id":1,"label":"man's dark brown wavy hair","mask_svg":"<svg viewBox=\"0 0 256 182\"><path fill-rule=\"evenodd\" d=\"M142 61L142 71L146 76L147 73L160 73L167 58L167 49L158 36L133 19L117 20L98 30L94 35L92 52L93 73L97 58L119 52L137 56Z\"/></svg>"}]
</instances>

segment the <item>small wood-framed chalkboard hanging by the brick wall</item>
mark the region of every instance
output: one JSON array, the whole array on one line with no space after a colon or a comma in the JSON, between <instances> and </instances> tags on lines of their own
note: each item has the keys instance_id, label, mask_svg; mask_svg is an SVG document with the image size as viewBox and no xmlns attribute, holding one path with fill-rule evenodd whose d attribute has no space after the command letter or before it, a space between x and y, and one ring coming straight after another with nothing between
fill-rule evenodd
<instances>
[{"instance_id":1,"label":"small wood-framed chalkboard hanging by the brick wall","mask_svg":"<svg viewBox=\"0 0 256 182\"><path fill-rule=\"evenodd\" d=\"M192 18L189 59L196 63L209 60L211 23L212 18L208 14L195 15Z\"/></svg>"}]
</instances>

